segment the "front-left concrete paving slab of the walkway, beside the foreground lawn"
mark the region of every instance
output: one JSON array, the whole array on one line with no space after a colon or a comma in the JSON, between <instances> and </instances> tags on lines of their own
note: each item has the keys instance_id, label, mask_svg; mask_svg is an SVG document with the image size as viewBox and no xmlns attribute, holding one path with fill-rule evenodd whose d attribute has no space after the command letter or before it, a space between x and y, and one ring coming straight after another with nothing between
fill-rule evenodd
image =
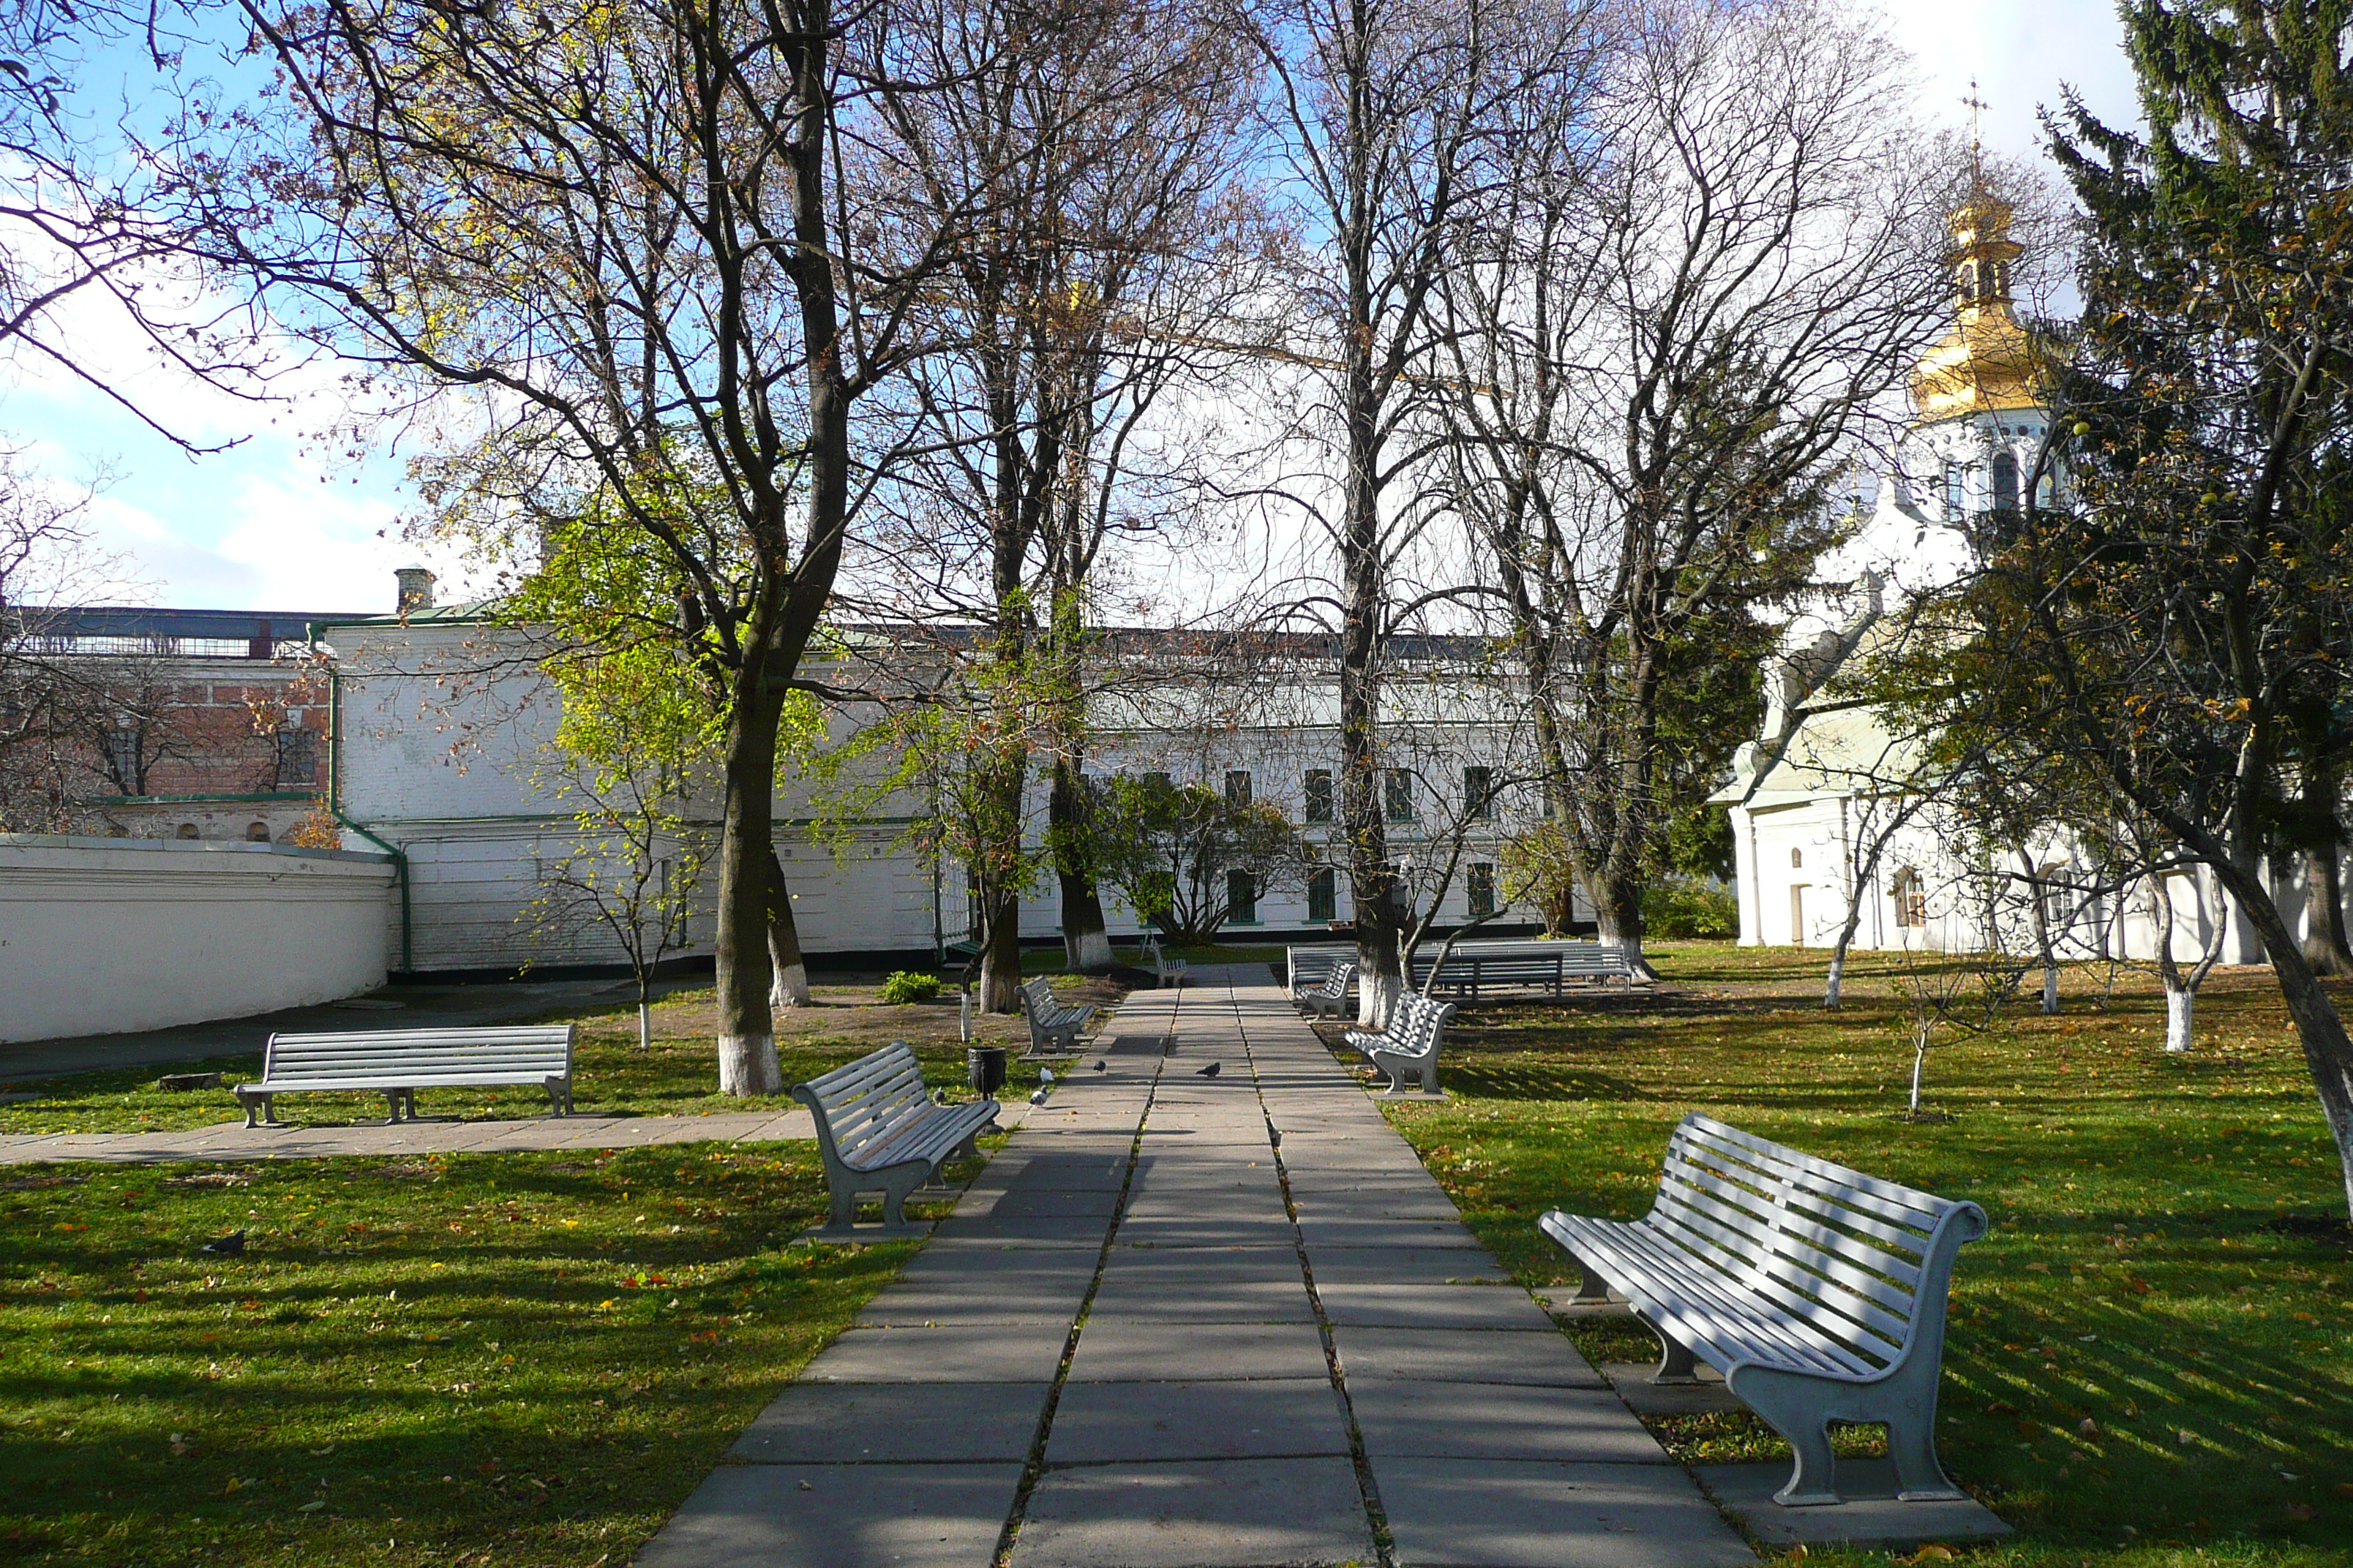
<instances>
[{"instance_id":1,"label":"front-left concrete paving slab of the walkway, beside the foreground lawn","mask_svg":"<svg viewBox=\"0 0 2353 1568\"><path fill-rule=\"evenodd\" d=\"M720 1465L638 1568L988 1568L1021 1465Z\"/></svg>"}]
</instances>

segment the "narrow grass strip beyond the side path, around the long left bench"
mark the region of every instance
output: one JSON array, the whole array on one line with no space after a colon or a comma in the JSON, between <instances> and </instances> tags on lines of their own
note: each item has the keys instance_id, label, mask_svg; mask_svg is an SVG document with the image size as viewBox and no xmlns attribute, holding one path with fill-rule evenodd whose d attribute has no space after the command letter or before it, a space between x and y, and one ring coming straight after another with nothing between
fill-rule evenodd
<instances>
[{"instance_id":1,"label":"narrow grass strip beyond the side path, around the long left bench","mask_svg":"<svg viewBox=\"0 0 2353 1568\"><path fill-rule=\"evenodd\" d=\"M776 1056L784 1081L840 1067L892 1039L915 1046L925 1074L936 1081L962 1081L965 1056L958 1041L955 992L936 1001L882 1006L880 985L816 985L819 1006L791 1009L776 1016ZM1085 983L1089 1001L1118 997L1101 980ZM398 997L400 992L386 992ZM718 1058L711 1044L715 1013L711 987L678 990L654 1004L654 1046L638 1048L635 1004L614 1004L588 1013L567 1013L551 1023L576 1020L574 1110L584 1117L694 1117L704 1112L791 1110L786 1095L736 1100L718 1093ZM400 1013L353 1013L353 1030L398 1030ZM981 1016L976 1039L1005 1046L1028 1041L1019 1018ZM162 1072L221 1072L224 1084L261 1077L261 1041L245 1056L172 1067L127 1067L113 1072L78 1072L59 1079L26 1081L24 1091L40 1098L0 1105L0 1133L139 1133L238 1121L242 1112L228 1088L169 1093L155 1088ZM1014 1084L1026 1093L1035 1067L1014 1065ZM548 1110L536 1088L426 1088L419 1110L428 1117L539 1117ZM381 1121L384 1095L287 1095L278 1103L287 1121Z\"/></svg>"}]
</instances>

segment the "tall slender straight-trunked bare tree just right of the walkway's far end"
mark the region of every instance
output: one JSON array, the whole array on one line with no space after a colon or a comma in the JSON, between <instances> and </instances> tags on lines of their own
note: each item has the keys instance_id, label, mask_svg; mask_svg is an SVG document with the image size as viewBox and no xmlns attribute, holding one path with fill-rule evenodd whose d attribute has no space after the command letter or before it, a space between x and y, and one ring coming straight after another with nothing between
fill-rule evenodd
<instances>
[{"instance_id":1,"label":"tall slender straight-trunked bare tree just right of the walkway's far end","mask_svg":"<svg viewBox=\"0 0 2353 1568\"><path fill-rule=\"evenodd\" d=\"M1435 386L1431 303L1461 263L1504 106L1574 94L1586 19L1541 0L1266 0L1247 19L1271 80L1275 190L1306 237L1294 322L1308 348L1292 364L1308 409L1289 435L1320 461L1318 482L1285 498L1337 557L1332 592L1299 611L1339 644L1339 827L1367 1025L1405 985L1381 689L1391 637L1431 602L1398 581L1433 520L1417 496L1440 444L1421 418Z\"/></svg>"}]
</instances>

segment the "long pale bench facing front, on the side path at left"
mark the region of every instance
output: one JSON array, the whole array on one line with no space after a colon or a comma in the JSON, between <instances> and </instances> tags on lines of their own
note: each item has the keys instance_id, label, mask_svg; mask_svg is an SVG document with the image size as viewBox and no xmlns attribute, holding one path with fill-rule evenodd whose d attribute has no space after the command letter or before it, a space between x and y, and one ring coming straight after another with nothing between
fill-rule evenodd
<instances>
[{"instance_id":1,"label":"long pale bench facing front, on the side path at left","mask_svg":"<svg viewBox=\"0 0 2353 1568\"><path fill-rule=\"evenodd\" d=\"M245 1126L278 1126L278 1095L381 1093L391 1121L416 1121L419 1088L496 1088L539 1084L548 1112L572 1112L572 1025L504 1030L372 1030L351 1034L271 1034L261 1077L238 1084ZM261 1119L254 1119L254 1112Z\"/></svg>"}]
</instances>

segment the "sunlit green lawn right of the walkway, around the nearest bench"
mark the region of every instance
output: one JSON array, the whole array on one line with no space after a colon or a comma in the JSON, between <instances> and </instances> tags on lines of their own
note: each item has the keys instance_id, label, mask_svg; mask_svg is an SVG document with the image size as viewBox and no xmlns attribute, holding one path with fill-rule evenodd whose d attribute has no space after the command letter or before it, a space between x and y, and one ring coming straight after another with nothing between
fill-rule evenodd
<instances>
[{"instance_id":1,"label":"sunlit green lawn right of the walkway, around the nearest bench","mask_svg":"<svg viewBox=\"0 0 2353 1568\"><path fill-rule=\"evenodd\" d=\"M2266 973L2217 973L2186 1058L2160 1048L2144 978L2104 1009L2068 994L2057 1018L2028 999L1929 1058L1927 1105L1953 1119L1913 1124L1889 961L1859 954L1847 1006L1824 1013L1819 952L1652 959L1661 994L1466 1006L1449 1100L1388 1107L1525 1284L1574 1284L1537 1215L1640 1215L1694 1110L1974 1199L1993 1232L1955 1269L1941 1453L2019 1528L1979 1561L2353 1561L2353 1234ZM1602 1361L1654 1356L1624 1321L1572 1333ZM1746 1415L1654 1429L1689 1462L1786 1455Z\"/></svg>"}]
</instances>

